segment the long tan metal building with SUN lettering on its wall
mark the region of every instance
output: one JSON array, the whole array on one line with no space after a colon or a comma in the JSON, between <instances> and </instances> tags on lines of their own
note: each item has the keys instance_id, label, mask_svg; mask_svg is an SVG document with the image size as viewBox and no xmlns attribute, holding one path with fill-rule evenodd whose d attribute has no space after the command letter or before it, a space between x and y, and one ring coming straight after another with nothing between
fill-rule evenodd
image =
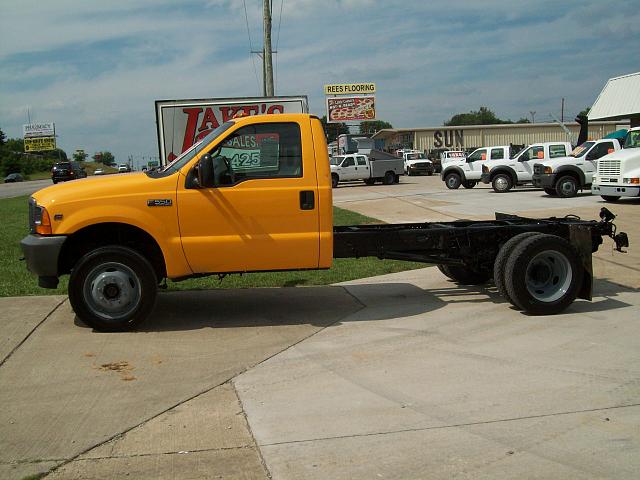
<instances>
[{"instance_id":1,"label":"long tan metal building with SUN lettering on its wall","mask_svg":"<svg viewBox=\"0 0 640 480\"><path fill-rule=\"evenodd\" d=\"M380 130L373 138L382 140L383 149L387 151L414 148L426 152L434 149L471 150L491 145L529 145L536 142L575 143L580 125L571 122L565 123L565 126L571 131L571 138L557 123L394 128ZM589 122L589 138L602 138L618 128L628 128L628 125L621 125L620 122Z\"/></svg>"}]
</instances>

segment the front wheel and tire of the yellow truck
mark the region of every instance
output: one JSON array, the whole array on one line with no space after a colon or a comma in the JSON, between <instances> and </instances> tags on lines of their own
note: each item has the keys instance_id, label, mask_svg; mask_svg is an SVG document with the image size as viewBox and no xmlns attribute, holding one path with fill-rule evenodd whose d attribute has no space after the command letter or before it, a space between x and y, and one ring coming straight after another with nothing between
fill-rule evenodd
<instances>
[{"instance_id":1,"label":"front wheel and tire of the yellow truck","mask_svg":"<svg viewBox=\"0 0 640 480\"><path fill-rule=\"evenodd\" d=\"M98 331L131 330L153 310L157 285L145 257L112 245L85 254L73 267L69 301L78 318Z\"/></svg>"}]
</instances>

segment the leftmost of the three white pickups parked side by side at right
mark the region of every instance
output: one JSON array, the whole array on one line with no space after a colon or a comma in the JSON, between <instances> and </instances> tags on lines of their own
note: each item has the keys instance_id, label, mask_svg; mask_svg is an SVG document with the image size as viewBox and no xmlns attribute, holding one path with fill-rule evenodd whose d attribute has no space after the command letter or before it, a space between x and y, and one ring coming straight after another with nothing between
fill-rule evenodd
<instances>
[{"instance_id":1,"label":"leftmost of the three white pickups parked side by side at right","mask_svg":"<svg viewBox=\"0 0 640 480\"><path fill-rule=\"evenodd\" d=\"M480 181L484 162L505 160L511 157L511 153L509 145L478 148L466 158L458 157L443 165L440 178L452 190L460 188L460 185L473 188Z\"/></svg>"}]
</instances>

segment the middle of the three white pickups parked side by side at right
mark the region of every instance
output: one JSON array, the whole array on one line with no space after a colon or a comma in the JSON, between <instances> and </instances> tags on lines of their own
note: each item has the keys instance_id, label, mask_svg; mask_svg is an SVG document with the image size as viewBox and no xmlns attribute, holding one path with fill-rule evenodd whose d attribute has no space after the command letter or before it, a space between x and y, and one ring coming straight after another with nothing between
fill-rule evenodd
<instances>
[{"instance_id":1,"label":"middle of the three white pickups parked side by side at right","mask_svg":"<svg viewBox=\"0 0 640 480\"><path fill-rule=\"evenodd\" d=\"M571 152L569 142L534 143L523 148L511 159L496 160L482 165L483 183L490 183L497 193L504 193L516 185L531 183L533 165L557 157L566 157Z\"/></svg>"}]
</instances>

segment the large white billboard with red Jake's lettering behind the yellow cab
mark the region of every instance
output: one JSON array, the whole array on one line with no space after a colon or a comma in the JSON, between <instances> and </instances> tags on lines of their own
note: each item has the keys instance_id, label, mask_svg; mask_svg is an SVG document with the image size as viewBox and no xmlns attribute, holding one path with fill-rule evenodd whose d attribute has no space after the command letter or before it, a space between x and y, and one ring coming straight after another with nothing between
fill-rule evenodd
<instances>
[{"instance_id":1,"label":"large white billboard with red Jake's lettering behind the yellow cab","mask_svg":"<svg viewBox=\"0 0 640 480\"><path fill-rule=\"evenodd\" d=\"M306 96L157 100L160 163L171 162L236 115L308 112Z\"/></svg>"}]
</instances>

